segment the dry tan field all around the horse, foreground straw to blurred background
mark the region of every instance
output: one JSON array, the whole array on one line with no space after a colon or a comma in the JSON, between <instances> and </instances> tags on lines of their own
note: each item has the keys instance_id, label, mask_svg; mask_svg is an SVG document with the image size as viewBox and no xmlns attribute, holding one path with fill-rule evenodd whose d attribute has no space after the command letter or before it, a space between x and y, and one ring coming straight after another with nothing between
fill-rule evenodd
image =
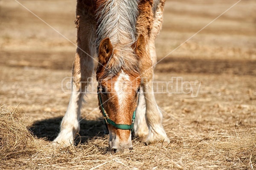
<instances>
[{"instance_id":1,"label":"dry tan field all around the horse, foreground straw to blurred background","mask_svg":"<svg viewBox=\"0 0 256 170\"><path fill-rule=\"evenodd\" d=\"M155 80L201 86L195 98L156 94L168 146L134 139L124 153L108 152L95 94L82 109L77 145L49 146L70 96L61 81L76 51L76 2L17 1L0 0L0 169L256 169L255 0L241 0L191 39L238 1L166 1Z\"/></svg>"}]
</instances>

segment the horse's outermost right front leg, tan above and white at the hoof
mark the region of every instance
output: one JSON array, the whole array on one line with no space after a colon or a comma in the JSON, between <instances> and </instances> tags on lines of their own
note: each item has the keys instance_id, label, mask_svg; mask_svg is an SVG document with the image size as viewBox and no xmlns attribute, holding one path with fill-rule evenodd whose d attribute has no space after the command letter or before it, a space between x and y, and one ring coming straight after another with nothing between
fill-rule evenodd
<instances>
[{"instance_id":1,"label":"horse's outermost right front leg, tan above and white at the hoof","mask_svg":"<svg viewBox=\"0 0 256 170\"><path fill-rule=\"evenodd\" d=\"M148 125L148 138L146 143L156 143L158 141L170 143L169 138L163 129L162 120L163 115L157 106L157 102L154 97L153 79L154 70L152 66L152 60L150 57L150 49L148 42L145 41L143 35L140 35L136 43L136 53L140 58L140 76L141 84L143 86L143 93L145 96L145 121ZM140 126L140 125L138 125ZM142 125L144 126L144 125Z\"/></svg>"}]
</instances>

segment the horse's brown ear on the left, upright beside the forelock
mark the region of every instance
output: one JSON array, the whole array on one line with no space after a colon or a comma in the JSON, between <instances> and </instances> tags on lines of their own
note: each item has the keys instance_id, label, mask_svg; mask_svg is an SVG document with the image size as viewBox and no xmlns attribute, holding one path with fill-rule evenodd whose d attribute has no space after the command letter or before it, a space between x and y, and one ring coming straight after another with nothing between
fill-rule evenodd
<instances>
[{"instance_id":1,"label":"horse's brown ear on the left, upright beside the forelock","mask_svg":"<svg viewBox=\"0 0 256 170\"><path fill-rule=\"evenodd\" d=\"M109 38L105 38L99 44L99 63L108 63L112 55L113 47Z\"/></svg>"}]
</instances>

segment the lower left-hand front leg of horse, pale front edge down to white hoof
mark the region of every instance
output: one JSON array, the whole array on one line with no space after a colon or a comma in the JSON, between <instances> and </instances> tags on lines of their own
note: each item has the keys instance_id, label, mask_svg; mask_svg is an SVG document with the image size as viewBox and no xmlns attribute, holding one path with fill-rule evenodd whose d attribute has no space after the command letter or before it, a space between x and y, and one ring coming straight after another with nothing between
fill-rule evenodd
<instances>
[{"instance_id":1,"label":"lower left-hand front leg of horse, pale front edge down to white hoof","mask_svg":"<svg viewBox=\"0 0 256 170\"><path fill-rule=\"evenodd\" d=\"M73 139L76 133L79 133L83 96L89 86L89 78L91 77L92 72L92 59L78 49L73 63L70 101L67 107L67 112L61 121L60 133L53 141L52 146L69 146L73 144Z\"/></svg>"}]
</instances>

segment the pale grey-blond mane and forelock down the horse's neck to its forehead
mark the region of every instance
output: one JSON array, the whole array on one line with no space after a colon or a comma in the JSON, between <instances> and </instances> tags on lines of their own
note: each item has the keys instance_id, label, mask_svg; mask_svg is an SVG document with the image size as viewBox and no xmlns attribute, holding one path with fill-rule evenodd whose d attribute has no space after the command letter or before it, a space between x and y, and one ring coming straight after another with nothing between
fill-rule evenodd
<instances>
[{"instance_id":1,"label":"pale grey-blond mane and forelock down the horse's neck to its forehead","mask_svg":"<svg viewBox=\"0 0 256 170\"><path fill-rule=\"evenodd\" d=\"M96 49L108 37L113 54L105 66L104 77L111 78L121 69L138 73L138 62L131 45L136 41L139 0L96 0Z\"/></svg>"}]
</instances>

